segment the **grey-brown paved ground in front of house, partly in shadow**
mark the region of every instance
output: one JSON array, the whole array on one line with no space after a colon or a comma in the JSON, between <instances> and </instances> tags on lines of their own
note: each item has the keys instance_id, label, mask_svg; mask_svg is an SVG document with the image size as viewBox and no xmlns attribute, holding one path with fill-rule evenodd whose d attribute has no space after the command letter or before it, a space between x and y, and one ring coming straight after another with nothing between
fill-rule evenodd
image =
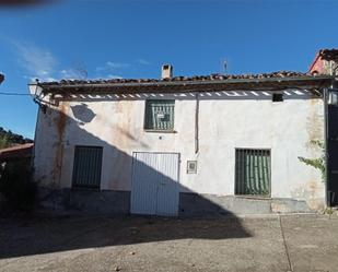
<instances>
[{"instance_id":1,"label":"grey-brown paved ground in front of house, partly in shadow","mask_svg":"<svg viewBox=\"0 0 338 272\"><path fill-rule=\"evenodd\" d=\"M338 271L338 217L0 220L0 271Z\"/></svg>"}]
</instances>

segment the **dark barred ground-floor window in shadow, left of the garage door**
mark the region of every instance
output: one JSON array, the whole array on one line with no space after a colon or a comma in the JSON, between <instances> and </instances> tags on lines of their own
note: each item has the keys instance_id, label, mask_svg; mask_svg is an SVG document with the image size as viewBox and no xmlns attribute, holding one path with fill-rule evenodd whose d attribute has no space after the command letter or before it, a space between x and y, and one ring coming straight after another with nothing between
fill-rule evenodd
<instances>
[{"instance_id":1,"label":"dark barred ground-floor window in shadow, left of the garage door","mask_svg":"<svg viewBox=\"0 0 338 272\"><path fill-rule=\"evenodd\" d=\"M102 150L100 146L75 146L73 187L100 189Z\"/></svg>"}]
</instances>

